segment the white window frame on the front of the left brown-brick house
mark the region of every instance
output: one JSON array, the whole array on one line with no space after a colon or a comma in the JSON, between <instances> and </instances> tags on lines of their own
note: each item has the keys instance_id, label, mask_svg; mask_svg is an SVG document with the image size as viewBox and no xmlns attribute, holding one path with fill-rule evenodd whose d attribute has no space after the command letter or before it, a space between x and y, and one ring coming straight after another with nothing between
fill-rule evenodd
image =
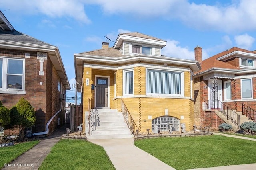
<instances>
[{"instance_id":1,"label":"white window frame on the front of the left brown-brick house","mask_svg":"<svg viewBox=\"0 0 256 170\"><path fill-rule=\"evenodd\" d=\"M2 87L0 88L0 93L8 93L8 94L26 94L25 92L25 59L22 58L13 58L13 57L2 57L0 59L3 61L2 65ZM22 76L22 89L8 89L7 85L7 70L8 70L8 60L20 60L23 61L23 71L22 75L17 74L18 76ZM15 75L15 74L9 74Z\"/></svg>"}]
</instances>

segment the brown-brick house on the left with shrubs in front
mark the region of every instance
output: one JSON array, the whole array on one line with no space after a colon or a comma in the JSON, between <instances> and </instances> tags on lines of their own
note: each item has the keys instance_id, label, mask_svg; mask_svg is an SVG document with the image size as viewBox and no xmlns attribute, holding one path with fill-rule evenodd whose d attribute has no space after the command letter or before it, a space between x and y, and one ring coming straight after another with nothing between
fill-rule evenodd
<instances>
[{"instance_id":1,"label":"brown-brick house on the left with shrubs in front","mask_svg":"<svg viewBox=\"0 0 256 170\"><path fill-rule=\"evenodd\" d=\"M0 101L12 108L20 98L36 111L34 135L65 123L70 84L58 47L20 33L0 12Z\"/></svg>"}]
</instances>

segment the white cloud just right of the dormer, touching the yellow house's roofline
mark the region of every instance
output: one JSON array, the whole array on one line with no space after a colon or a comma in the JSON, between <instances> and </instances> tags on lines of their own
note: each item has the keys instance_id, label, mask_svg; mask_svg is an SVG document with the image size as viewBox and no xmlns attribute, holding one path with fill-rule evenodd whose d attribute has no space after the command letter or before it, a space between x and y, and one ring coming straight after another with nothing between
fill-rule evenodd
<instances>
[{"instance_id":1,"label":"white cloud just right of the dormer, touching the yellow house's roofline","mask_svg":"<svg viewBox=\"0 0 256 170\"><path fill-rule=\"evenodd\" d=\"M194 51L189 51L188 47L179 46L180 42L167 40L166 46L162 49L162 55L180 59L194 60Z\"/></svg>"}]
</instances>

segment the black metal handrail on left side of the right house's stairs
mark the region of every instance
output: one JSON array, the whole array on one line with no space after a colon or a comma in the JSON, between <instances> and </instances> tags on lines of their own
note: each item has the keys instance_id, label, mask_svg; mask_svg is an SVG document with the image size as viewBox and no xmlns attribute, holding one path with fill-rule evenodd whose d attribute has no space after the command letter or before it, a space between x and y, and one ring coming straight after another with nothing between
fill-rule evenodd
<instances>
[{"instance_id":1,"label":"black metal handrail on left side of the right house's stairs","mask_svg":"<svg viewBox=\"0 0 256 170\"><path fill-rule=\"evenodd\" d=\"M217 109L224 115L227 120L230 120L236 126L240 126L240 115L232 110L230 107L226 106L220 100L206 100L205 102L205 109Z\"/></svg>"}]
</instances>

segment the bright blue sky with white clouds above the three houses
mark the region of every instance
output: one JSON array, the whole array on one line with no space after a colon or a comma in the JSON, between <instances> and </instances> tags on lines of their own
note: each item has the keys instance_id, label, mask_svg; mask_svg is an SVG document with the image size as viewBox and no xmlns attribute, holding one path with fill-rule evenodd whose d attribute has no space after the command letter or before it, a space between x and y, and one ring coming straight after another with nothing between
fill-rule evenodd
<instances>
[{"instance_id":1,"label":"bright blue sky with white clouds above the three houses","mask_svg":"<svg viewBox=\"0 0 256 170\"><path fill-rule=\"evenodd\" d=\"M163 39L162 54L183 59L194 59L197 45L203 59L231 47L256 50L254 0L0 0L0 10L17 31L59 47L70 85L74 53L100 49L118 33Z\"/></svg>"}]
</instances>

